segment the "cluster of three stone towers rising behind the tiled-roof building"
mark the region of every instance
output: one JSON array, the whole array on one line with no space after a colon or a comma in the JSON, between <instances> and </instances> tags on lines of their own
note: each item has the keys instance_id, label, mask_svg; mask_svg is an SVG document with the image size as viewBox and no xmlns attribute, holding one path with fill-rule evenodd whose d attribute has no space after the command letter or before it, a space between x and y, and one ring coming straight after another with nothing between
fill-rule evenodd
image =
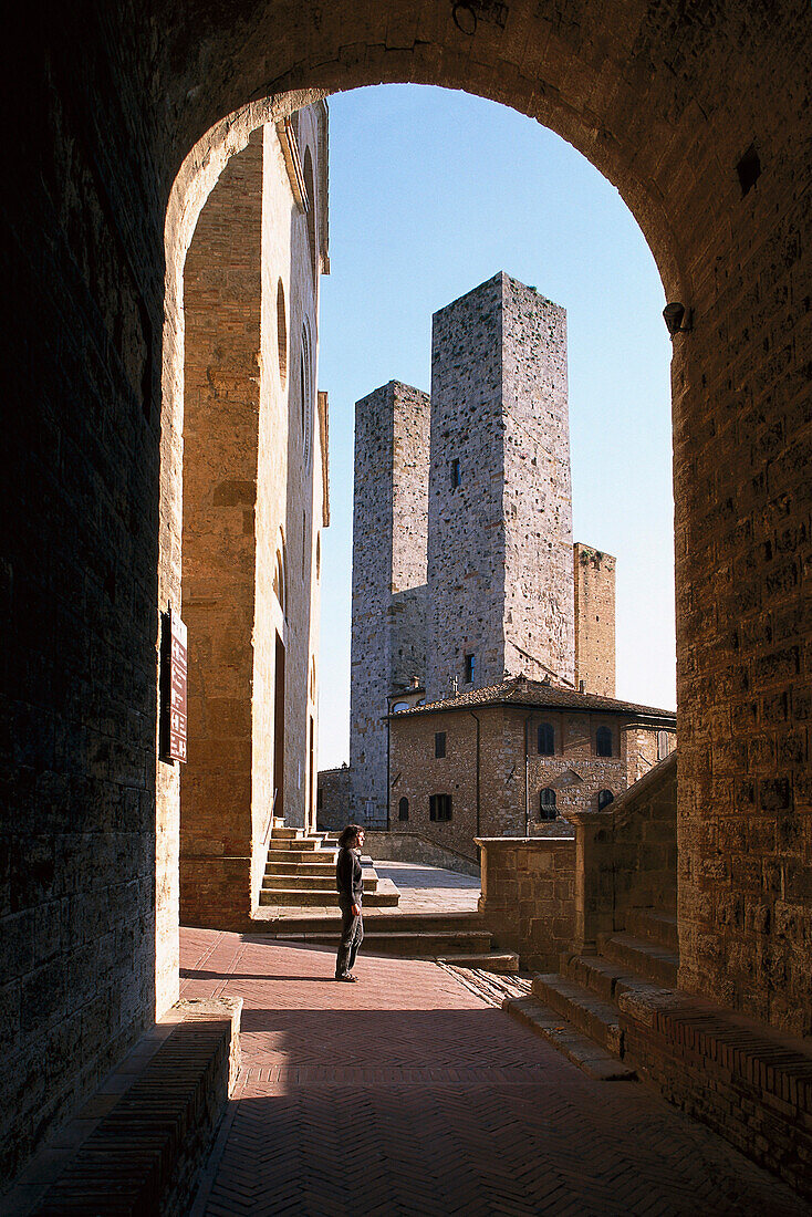
<instances>
[{"instance_id":1,"label":"cluster of three stone towers rising behind the tiled-roof building","mask_svg":"<svg viewBox=\"0 0 812 1217\"><path fill-rule=\"evenodd\" d=\"M614 578L572 544L566 313L499 273L435 314L431 397L355 404L353 814L386 817L398 700L505 675L614 696Z\"/></svg>"}]
</instances>

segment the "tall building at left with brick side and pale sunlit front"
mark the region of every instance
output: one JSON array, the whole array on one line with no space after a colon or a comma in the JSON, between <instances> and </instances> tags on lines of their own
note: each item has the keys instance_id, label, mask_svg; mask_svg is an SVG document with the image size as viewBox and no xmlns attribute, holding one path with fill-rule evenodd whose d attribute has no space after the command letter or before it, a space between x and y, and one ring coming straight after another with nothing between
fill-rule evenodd
<instances>
[{"instance_id":1,"label":"tall building at left with brick side and pale sunlit front","mask_svg":"<svg viewBox=\"0 0 812 1217\"><path fill-rule=\"evenodd\" d=\"M326 123L318 105L254 131L186 258L180 909L192 924L243 924L257 907L273 814L315 824Z\"/></svg>"}]
</instances>

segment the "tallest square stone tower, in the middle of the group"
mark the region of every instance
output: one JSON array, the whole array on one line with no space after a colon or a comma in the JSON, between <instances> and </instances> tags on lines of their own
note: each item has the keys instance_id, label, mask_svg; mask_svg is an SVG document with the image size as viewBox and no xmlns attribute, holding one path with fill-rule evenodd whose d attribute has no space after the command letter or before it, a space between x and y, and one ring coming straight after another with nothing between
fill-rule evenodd
<instances>
[{"instance_id":1,"label":"tallest square stone tower, in the middle of the group","mask_svg":"<svg viewBox=\"0 0 812 1217\"><path fill-rule=\"evenodd\" d=\"M426 699L575 680L566 313L499 273L435 314Z\"/></svg>"}]
</instances>

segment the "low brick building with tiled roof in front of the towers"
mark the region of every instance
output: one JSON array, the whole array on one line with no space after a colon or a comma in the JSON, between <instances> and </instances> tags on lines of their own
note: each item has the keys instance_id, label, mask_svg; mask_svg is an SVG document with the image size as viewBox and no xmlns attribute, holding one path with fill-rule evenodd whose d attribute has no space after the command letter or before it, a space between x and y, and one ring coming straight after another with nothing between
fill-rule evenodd
<instances>
[{"instance_id":1,"label":"low brick building with tiled roof in front of the towers","mask_svg":"<svg viewBox=\"0 0 812 1217\"><path fill-rule=\"evenodd\" d=\"M513 677L390 716L390 824L477 857L607 807L676 747L676 714Z\"/></svg>"}]
</instances>

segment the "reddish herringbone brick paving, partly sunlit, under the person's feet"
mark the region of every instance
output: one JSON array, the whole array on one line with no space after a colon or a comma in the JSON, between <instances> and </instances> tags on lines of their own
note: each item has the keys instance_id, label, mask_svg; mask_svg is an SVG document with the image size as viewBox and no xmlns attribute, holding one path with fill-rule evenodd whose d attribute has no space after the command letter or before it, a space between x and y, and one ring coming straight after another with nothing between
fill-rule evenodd
<instances>
[{"instance_id":1,"label":"reddish herringbone brick paving, partly sunlit, under the person's feet","mask_svg":"<svg viewBox=\"0 0 812 1217\"><path fill-rule=\"evenodd\" d=\"M181 932L181 996L243 998L242 1071L194 1217L795 1215L639 1083L594 1082L425 960Z\"/></svg>"}]
</instances>

